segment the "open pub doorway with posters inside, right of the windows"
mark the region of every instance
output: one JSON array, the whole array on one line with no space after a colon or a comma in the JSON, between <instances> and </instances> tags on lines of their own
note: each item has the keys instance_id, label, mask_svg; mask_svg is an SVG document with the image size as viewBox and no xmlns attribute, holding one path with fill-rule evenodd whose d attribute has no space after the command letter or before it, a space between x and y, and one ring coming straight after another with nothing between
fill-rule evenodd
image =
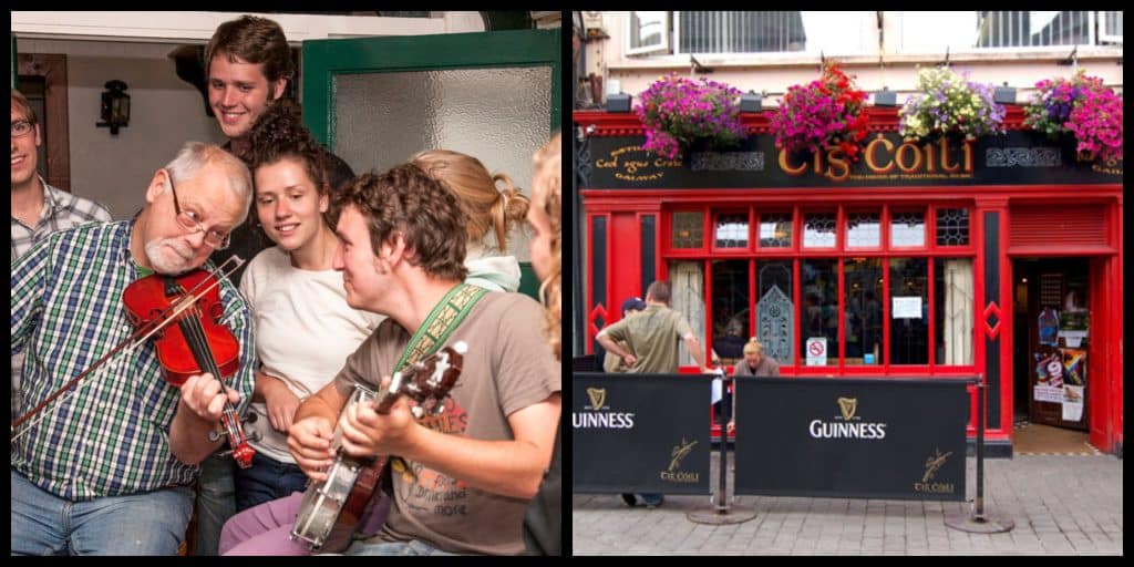
<instances>
[{"instance_id":1,"label":"open pub doorway with posters inside, right of the windows","mask_svg":"<svg viewBox=\"0 0 1134 567\"><path fill-rule=\"evenodd\" d=\"M1084 257L1013 261L1013 407L1017 454L1092 452L1090 263Z\"/></svg>"}]
</instances>

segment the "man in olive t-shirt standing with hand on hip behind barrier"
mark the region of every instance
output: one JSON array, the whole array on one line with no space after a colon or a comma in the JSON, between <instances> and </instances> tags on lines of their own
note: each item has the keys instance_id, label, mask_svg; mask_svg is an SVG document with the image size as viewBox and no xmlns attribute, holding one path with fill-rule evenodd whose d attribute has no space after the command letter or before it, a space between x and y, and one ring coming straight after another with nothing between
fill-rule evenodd
<instances>
[{"instance_id":1,"label":"man in olive t-shirt standing with hand on hip behind barrier","mask_svg":"<svg viewBox=\"0 0 1134 567\"><path fill-rule=\"evenodd\" d=\"M654 281L645 294L645 311L599 331L595 337L608 353L620 357L632 374L676 374L677 340L685 342L697 367L705 370L705 354L693 328L680 313L669 308L669 282ZM629 349L624 348L624 342ZM625 498L625 497L624 497ZM642 494L648 508L661 505L661 494ZM633 506L626 499L626 503Z\"/></svg>"}]
</instances>

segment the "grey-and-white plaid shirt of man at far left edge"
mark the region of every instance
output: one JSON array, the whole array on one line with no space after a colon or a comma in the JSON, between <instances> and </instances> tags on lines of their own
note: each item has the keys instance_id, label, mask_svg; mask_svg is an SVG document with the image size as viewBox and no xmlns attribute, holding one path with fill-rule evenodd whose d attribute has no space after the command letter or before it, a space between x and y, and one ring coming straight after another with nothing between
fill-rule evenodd
<instances>
[{"instance_id":1,"label":"grey-and-white plaid shirt of man at far left edge","mask_svg":"<svg viewBox=\"0 0 1134 567\"><path fill-rule=\"evenodd\" d=\"M34 228L28 228L15 217L11 218L11 261L24 255L32 245L44 236L59 230L67 230L91 221L110 222L110 211L105 206L88 198L71 195L57 189L40 177L43 185L43 210ZM11 413L16 414L23 400L20 390L20 369L24 367L24 355L11 357Z\"/></svg>"}]
</instances>

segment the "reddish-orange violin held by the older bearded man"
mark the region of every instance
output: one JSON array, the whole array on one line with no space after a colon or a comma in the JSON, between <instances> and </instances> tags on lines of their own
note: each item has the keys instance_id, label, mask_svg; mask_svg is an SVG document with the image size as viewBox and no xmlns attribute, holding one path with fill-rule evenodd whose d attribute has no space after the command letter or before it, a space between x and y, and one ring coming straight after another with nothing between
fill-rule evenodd
<instances>
[{"instance_id":1,"label":"reddish-orange violin held by the older bearded man","mask_svg":"<svg viewBox=\"0 0 1134 567\"><path fill-rule=\"evenodd\" d=\"M166 381L176 388L189 376L208 372L221 382L223 392L222 379L231 376L240 366L240 345L220 323L225 306L218 281L214 274L204 270L178 277L155 273L130 284L122 291L126 314L135 327L141 330L162 325L152 337L154 350ZM202 287L202 291L191 294ZM248 468L256 451L248 446L236 408L227 396L221 423L232 448L232 458L240 468ZM220 433L210 432L210 441L219 439Z\"/></svg>"}]
</instances>

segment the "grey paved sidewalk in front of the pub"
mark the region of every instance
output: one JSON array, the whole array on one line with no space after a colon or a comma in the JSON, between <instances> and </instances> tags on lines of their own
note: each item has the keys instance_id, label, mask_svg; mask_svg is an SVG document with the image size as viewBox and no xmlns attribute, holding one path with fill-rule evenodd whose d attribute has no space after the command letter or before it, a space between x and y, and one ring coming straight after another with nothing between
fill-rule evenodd
<instances>
[{"instance_id":1,"label":"grey paved sidewalk in front of the pub","mask_svg":"<svg viewBox=\"0 0 1134 567\"><path fill-rule=\"evenodd\" d=\"M717 456L710 477L717 483ZM1123 555L1123 462L1112 455L984 459L984 511L1015 522L978 534L945 525L972 510L976 460L967 458L967 501L741 496L756 517L697 524L708 496L667 496L658 509L628 508L618 494L574 494L572 551L585 555ZM731 486L729 486L731 491ZM966 516L967 517L967 516Z\"/></svg>"}]
</instances>

